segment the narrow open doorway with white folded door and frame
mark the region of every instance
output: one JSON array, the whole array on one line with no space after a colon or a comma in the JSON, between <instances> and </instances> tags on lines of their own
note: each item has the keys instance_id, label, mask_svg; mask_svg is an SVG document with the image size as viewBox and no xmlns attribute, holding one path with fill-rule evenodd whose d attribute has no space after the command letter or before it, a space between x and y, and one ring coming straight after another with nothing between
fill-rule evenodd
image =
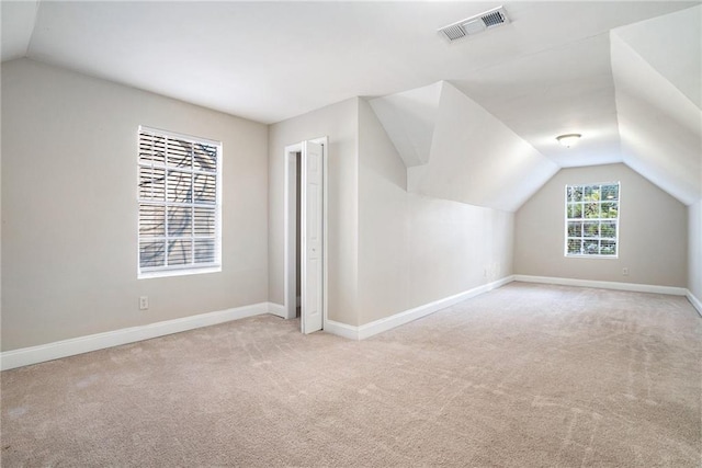
<instances>
[{"instance_id":1,"label":"narrow open doorway with white folded door and frame","mask_svg":"<svg viewBox=\"0 0 702 468\"><path fill-rule=\"evenodd\" d=\"M285 147L285 317L324 329L327 290L327 138Z\"/></svg>"}]
</instances>

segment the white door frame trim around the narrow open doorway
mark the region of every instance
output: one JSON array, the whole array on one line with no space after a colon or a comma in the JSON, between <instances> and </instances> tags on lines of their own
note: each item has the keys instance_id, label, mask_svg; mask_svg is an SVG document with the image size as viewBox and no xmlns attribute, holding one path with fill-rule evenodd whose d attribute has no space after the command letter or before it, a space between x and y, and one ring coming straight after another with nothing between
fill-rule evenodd
<instances>
[{"instance_id":1,"label":"white door frame trim around the narrow open doorway","mask_svg":"<svg viewBox=\"0 0 702 468\"><path fill-rule=\"evenodd\" d=\"M327 207L328 207L328 148L329 141L328 137L319 137L313 138L307 141L316 142L321 145L322 147L322 239L321 239L321 264L322 264L322 313L321 313L321 328L324 330L325 323L327 322L327 305L328 305L328 296L327 296L327 261L328 261L328 242L327 242ZM285 152L283 155L283 161L285 167L285 179L284 179L284 274L283 274L283 317L286 319L294 319L296 317L297 309L297 295L296 295L296 279L297 279L297 264L296 264L296 255L295 249L297 243L297 230L296 230L296 220L297 220L297 206L296 206L296 196L297 196L297 153L303 151L303 141L299 141L294 145L288 145L285 147ZM302 162L302 160L301 160ZM301 190L304 190L301 189ZM301 219L301 224L304 222ZM301 255L302 260L302 255Z\"/></svg>"}]
</instances>

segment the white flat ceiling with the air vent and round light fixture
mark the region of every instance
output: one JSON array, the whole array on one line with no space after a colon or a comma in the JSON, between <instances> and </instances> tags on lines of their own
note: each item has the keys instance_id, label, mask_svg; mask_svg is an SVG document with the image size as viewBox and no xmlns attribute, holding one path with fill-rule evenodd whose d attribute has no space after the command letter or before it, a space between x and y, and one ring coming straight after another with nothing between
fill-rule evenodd
<instances>
[{"instance_id":1,"label":"white flat ceiling with the air vent and round light fixture","mask_svg":"<svg viewBox=\"0 0 702 468\"><path fill-rule=\"evenodd\" d=\"M1 58L27 57L262 123L445 80L558 167L629 163L631 133L645 125L627 114L622 151L618 103L627 113L641 106L622 91L618 98L616 82L626 81L612 72L611 32L699 110L700 3L508 1L511 23L449 44L437 28L500 3L3 0ZM577 148L555 142L573 132L584 135ZM654 180L646 171L655 170L639 172ZM699 195L679 198L690 196Z\"/></svg>"}]
</instances>

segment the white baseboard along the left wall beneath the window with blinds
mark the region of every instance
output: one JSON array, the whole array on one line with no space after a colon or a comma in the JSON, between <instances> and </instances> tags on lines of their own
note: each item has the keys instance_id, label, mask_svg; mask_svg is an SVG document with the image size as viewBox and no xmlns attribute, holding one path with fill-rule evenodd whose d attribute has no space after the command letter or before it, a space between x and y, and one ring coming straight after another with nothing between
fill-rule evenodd
<instances>
[{"instance_id":1,"label":"white baseboard along the left wall beneath the window with blinds","mask_svg":"<svg viewBox=\"0 0 702 468\"><path fill-rule=\"evenodd\" d=\"M118 346L121 344L149 340L151 338L214 326L246 317L269 313L271 306L276 305L260 303L251 306L149 323L141 327L132 327L104 333L72 338L70 340L56 341L54 343L41 344L38 346L5 351L0 353L0 369L7 370L15 367L29 366L31 364L58 359L60 357L104 350L105 347Z\"/></svg>"}]
</instances>

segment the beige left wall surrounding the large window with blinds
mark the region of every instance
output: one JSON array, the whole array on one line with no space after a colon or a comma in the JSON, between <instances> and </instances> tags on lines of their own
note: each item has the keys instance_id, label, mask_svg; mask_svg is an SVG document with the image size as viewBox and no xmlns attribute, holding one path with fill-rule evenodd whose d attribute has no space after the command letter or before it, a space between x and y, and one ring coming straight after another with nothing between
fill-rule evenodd
<instances>
[{"instance_id":1,"label":"beige left wall surrounding the large window with blinds","mask_svg":"<svg viewBox=\"0 0 702 468\"><path fill-rule=\"evenodd\" d=\"M138 125L223 141L222 273L137 279ZM2 64L2 350L268 300L267 135L47 65Z\"/></svg>"}]
</instances>

